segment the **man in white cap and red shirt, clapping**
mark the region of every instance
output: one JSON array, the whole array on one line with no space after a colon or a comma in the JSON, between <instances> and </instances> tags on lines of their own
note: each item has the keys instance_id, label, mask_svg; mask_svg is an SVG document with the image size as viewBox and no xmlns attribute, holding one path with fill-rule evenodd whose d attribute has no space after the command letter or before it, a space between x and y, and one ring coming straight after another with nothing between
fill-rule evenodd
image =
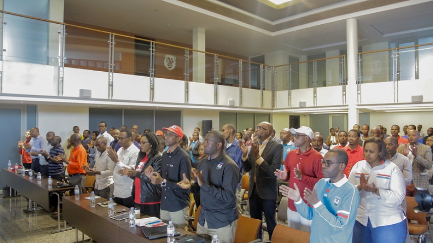
<instances>
[{"instance_id":1,"label":"man in white cap and red shirt, clapping","mask_svg":"<svg viewBox=\"0 0 433 243\"><path fill-rule=\"evenodd\" d=\"M276 170L275 175L283 181L289 181L289 187L294 189L296 183L301 189L301 198L304 198L304 189L313 190L314 185L323 178L322 155L311 147L314 134L311 128L301 126L299 129L291 128L293 142L298 148L290 151L284 161L283 171ZM306 202L307 203L307 202ZM310 231L311 220L303 218L297 211L294 201L288 200L287 224L289 227Z\"/></svg>"}]
</instances>

